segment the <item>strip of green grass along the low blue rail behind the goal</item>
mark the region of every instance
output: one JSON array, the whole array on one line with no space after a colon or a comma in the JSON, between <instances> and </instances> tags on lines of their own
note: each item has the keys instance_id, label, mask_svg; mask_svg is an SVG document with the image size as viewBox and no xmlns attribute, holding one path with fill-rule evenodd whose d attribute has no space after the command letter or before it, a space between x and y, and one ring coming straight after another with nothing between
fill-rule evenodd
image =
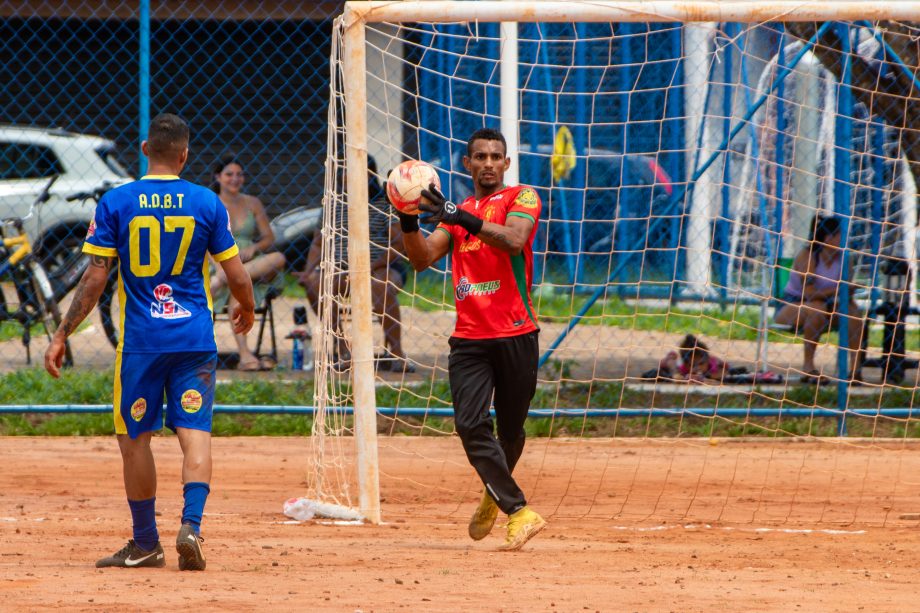
<instances>
[{"instance_id":1,"label":"strip of green grass along the low blue rail behind the goal","mask_svg":"<svg viewBox=\"0 0 920 613\"><path fill-rule=\"evenodd\" d=\"M346 390L347 391L347 390ZM0 377L0 404L109 404L112 372L65 371L55 380L39 369L21 370ZM217 386L216 402L222 405L310 405L312 381L281 381L280 377L232 381ZM445 380L426 381L400 389L377 390L379 407L450 408L450 388ZM620 383L560 383L541 386L533 407L573 409L609 408L719 408L809 409L836 406L835 388L790 385L778 392L702 394L692 387L683 393L646 392ZM920 390L882 389L866 396L852 396L851 408L920 406ZM350 427L351 418L345 418ZM313 420L308 415L260 415L218 413L215 436L309 436ZM674 417L569 417L531 418L525 429L531 437L736 437L762 436L832 437L837 435L836 417L702 417L686 413ZM378 431L386 435L443 435L453 432L453 419L445 416L380 417ZM920 437L920 420L848 416L851 437ZM113 432L106 414L8 414L0 415L0 435L97 436Z\"/></svg>"}]
</instances>

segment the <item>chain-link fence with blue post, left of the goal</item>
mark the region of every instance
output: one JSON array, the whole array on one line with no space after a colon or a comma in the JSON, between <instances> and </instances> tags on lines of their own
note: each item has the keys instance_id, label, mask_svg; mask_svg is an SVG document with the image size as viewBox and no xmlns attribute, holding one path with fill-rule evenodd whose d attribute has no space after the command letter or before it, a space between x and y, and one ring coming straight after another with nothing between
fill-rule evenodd
<instances>
[{"instance_id":1,"label":"chain-link fence with blue post, left of the goal","mask_svg":"<svg viewBox=\"0 0 920 613\"><path fill-rule=\"evenodd\" d=\"M95 206L93 198L67 198L140 176L141 126L159 112L176 113L191 128L183 178L212 184L216 164L232 154L245 172L243 191L261 200L269 218L322 203L331 23L342 3L147 6L145 14L143 2L0 0L0 216L25 219L62 312L85 267L79 250ZM43 190L47 200L38 204ZM311 239L304 224L319 216L286 219L276 226L289 250L275 283L285 296L276 301L278 336L304 295L292 276ZM2 279L0 362L7 369L35 362L46 346L29 277L14 267ZM117 334L115 302L73 337L77 366L112 363L101 332ZM233 353L223 328L229 331L218 323L221 351ZM269 352L265 332L261 349Z\"/></svg>"}]
</instances>

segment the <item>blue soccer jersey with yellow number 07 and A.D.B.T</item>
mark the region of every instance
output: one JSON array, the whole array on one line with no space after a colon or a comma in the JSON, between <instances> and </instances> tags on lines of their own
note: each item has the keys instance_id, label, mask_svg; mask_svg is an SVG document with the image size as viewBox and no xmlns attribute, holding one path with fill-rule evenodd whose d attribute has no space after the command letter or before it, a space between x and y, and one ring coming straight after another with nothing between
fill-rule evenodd
<instances>
[{"instance_id":1,"label":"blue soccer jersey with yellow number 07 and A.D.B.T","mask_svg":"<svg viewBox=\"0 0 920 613\"><path fill-rule=\"evenodd\" d=\"M217 351L207 254L222 262L239 252L217 194L175 176L113 189L83 251L118 257L119 350Z\"/></svg>"}]
</instances>

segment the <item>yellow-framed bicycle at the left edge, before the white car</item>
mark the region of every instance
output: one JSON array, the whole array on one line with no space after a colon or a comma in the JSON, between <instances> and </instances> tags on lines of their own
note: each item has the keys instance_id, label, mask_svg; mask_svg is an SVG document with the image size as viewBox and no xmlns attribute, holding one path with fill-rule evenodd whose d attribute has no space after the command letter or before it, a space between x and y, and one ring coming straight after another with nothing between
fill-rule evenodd
<instances>
[{"instance_id":1,"label":"yellow-framed bicycle at the left edge, before the white car","mask_svg":"<svg viewBox=\"0 0 920 613\"><path fill-rule=\"evenodd\" d=\"M57 176L45 185L33 204L33 208L48 200L51 186ZM31 211L29 213L31 215ZM11 309L5 291L0 288L0 322L17 321L22 325L22 344L26 348L26 364L32 364L32 326L42 324L48 340L61 325L61 312L54 297L54 290L48 273L32 251L29 237L23 230L23 219L11 217L3 219L0 226L2 245L0 245L0 279L8 279L13 284L19 305ZM70 343L66 345L64 365L73 365L73 353Z\"/></svg>"}]
</instances>

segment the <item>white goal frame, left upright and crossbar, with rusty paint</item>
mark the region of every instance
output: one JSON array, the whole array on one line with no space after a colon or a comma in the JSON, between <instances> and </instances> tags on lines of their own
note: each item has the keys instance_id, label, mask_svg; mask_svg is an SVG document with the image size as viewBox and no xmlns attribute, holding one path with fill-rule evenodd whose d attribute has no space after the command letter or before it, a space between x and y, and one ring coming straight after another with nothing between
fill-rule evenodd
<instances>
[{"instance_id":1,"label":"white goal frame, left upright and crossbar, with rusty paint","mask_svg":"<svg viewBox=\"0 0 920 613\"><path fill-rule=\"evenodd\" d=\"M365 26L370 23L590 23L590 22L827 22L920 20L920 2L591 2L559 1L369 1L345 3L341 75L344 94L344 198L348 212L348 267L351 285L352 381L359 505L362 515L380 521L378 451L367 173L367 58ZM909 72L909 70L908 70ZM914 77L916 80L916 77Z\"/></svg>"}]
</instances>

